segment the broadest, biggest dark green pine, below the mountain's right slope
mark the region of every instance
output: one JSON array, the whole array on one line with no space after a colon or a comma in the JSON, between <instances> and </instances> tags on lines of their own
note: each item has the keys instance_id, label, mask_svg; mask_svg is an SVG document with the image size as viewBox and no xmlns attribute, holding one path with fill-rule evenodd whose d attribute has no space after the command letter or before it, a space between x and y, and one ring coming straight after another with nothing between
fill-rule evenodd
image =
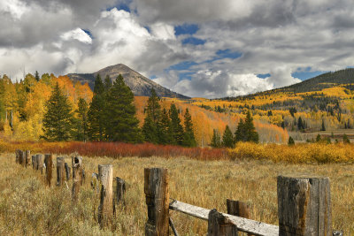
<instances>
[{"instance_id":1,"label":"broadest, biggest dark green pine, below the mountain's right slope","mask_svg":"<svg viewBox=\"0 0 354 236\"><path fill-rule=\"evenodd\" d=\"M109 141L140 142L142 134L135 117L134 95L119 74L108 93L107 124Z\"/></svg>"}]
</instances>

